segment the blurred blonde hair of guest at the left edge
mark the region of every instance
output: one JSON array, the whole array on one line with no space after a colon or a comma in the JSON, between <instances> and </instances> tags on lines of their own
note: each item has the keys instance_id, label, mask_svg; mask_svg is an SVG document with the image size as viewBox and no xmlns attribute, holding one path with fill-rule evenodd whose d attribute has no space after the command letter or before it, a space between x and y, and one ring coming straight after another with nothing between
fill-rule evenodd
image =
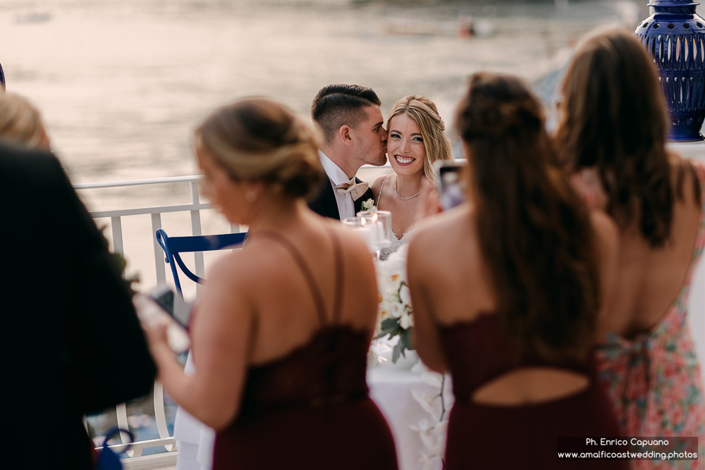
<instances>
[{"instance_id":1,"label":"blurred blonde hair of guest at the left edge","mask_svg":"<svg viewBox=\"0 0 705 470\"><path fill-rule=\"evenodd\" d=\"M25 97L0 90L0 140L27 149L50 150L42 115Z\"/></svg>"}]
</instances>

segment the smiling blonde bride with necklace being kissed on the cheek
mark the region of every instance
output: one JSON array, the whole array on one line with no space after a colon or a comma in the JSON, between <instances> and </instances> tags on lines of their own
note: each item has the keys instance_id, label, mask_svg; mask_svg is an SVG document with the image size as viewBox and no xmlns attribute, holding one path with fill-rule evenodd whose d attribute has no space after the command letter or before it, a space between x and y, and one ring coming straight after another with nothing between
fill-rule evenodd
<instances>
[{"instance_id":1,"label":"smiling blonde bride with necklace being kissed on the cheek","mask_svg":"<svg viewBox=\"0 0 705 470\"><path fill-rule=\"evenodd\" d=\"M418 94L403 97L392 106L387 118L387 155L393 173L379 176L372 183L377 209L392 213L393 243L381 250L380 259L408 240L416 228L424 187L435 183L432 164L436 160L453 161L446 126L436 105Z\"/></svg>"}]
</instances>

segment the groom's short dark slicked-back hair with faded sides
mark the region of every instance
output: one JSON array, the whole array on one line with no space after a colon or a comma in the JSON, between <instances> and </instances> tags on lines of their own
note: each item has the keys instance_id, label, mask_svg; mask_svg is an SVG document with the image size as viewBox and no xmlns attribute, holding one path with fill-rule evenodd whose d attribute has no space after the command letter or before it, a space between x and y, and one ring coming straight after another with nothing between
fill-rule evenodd
<instances>
[{"instance_id":1,"label":"groom's short dark slicked-back hair with faded sides","mask_svg":"<svg viewBox=\"0 0 705 470\"><path fill-rule=\"evenodd\" d=\"M321 128L327 144L333 140L341 126L357 127L365 117L364 108L381 104L372 88L360 85L328 85L321 88L313 99L311 118Z\"/></svg>"}]
</instances>

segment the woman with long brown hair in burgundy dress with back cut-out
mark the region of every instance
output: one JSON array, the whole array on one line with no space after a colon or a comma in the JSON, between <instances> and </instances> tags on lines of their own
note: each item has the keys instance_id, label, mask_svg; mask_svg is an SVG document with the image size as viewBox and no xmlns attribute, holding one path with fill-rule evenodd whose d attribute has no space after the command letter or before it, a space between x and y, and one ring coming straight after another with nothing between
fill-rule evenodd
<instances>
[{"instance_id":1,"label":"woman with long brown hair in burgundy dress with back cut-out","mask_svg":"<svg viewBox=\"0 0 705 470\"><path fill-rule=\"evenodd\" d=\"M619 469L560 460L560 437L618 436L591 342L611 302L617 230L556 168L541 104L477 74L456 119L470 202L410 242L417 351L453 376L446 469Z\"/></svg>"}]
</instances>

